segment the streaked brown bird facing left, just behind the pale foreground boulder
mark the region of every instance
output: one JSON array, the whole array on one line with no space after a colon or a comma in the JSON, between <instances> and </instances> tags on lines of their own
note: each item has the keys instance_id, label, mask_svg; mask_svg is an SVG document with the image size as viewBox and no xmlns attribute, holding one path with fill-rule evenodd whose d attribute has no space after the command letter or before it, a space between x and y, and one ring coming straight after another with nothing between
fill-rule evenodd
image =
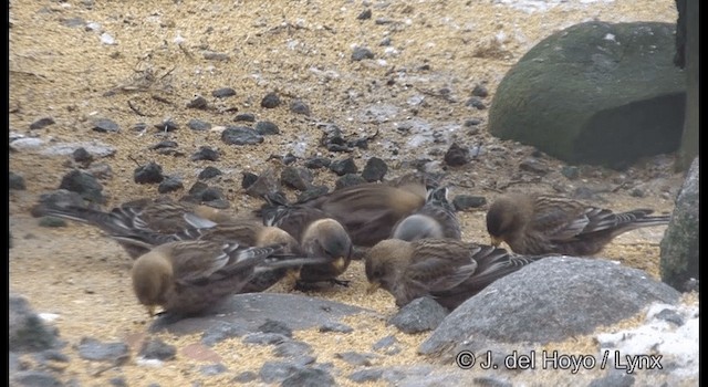
<instances>
[{"instance_id":1,"label":"streaked brown bird facing left, just behind the pale foreground boulder","mask_svg":"<svg viewBox=\"0 0 708 387\"><path fill-rule=\"evenodd\" d=\"M496 280L543 257L516 255L451 238L387 239L364 258L367 293L384 289L398 307L429 296L451 311Z\"/></svg>"}]
</instances>

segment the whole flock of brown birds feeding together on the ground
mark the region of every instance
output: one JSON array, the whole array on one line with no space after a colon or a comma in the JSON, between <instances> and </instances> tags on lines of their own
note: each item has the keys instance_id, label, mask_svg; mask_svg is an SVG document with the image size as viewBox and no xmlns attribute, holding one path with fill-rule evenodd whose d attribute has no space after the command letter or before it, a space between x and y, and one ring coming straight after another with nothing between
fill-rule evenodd
<instances>
[{"instance_id":1,"label":"whole flock of brown birds feeding together on the ground","mask_svg":"<svg viewBox=\"0 0 708 387\"><path fill-rule=\"evenodd\" d=\"M198 314L284 278L302 289L346 285L337 278L357 258L365 262L368 292L382 287L398 306L430 296L452 310L539 259L593 255L623 232L669 221L648 209L615 213L565 198L509 194L490 206L491 244L482 244L461 240L447 194L410 175L296 203L269 195L254 216L242 218L152 199L110 212L54 203L44 215L93 224L121 243L135 260L133 289L150 316L157 307L176 316Z\"/></svg>"}]
</instances>

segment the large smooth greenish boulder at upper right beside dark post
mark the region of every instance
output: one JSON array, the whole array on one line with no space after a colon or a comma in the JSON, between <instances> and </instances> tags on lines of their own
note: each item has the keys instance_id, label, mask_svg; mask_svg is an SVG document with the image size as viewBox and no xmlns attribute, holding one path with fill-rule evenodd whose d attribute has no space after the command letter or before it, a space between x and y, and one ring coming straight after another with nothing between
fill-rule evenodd
<instances>
[{"instance_id":1,"label":"large smooth greenish boulder at upper right beside dark post","mask_svg":"<svg viewBox=\"0 0 708 387\"><path fill-rule=\"evenodd\" d=\"M573 164L622 168L676 150L686 77L671 23L586 22L537 44L504 76L489 132Z\"/></svg>"}]
</instances>

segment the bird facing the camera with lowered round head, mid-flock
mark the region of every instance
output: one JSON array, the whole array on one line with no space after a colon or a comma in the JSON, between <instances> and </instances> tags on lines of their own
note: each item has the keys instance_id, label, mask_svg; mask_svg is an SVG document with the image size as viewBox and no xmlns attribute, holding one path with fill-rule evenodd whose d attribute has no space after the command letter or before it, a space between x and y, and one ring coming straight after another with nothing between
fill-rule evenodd
<instances>
[{"instance_id":1,"label":"bird facing the camera with lowered round head, mid-flock","mask_svg":"<svg viewBox=\"0 0 708 387\"><path fill-rule=\"evenodd\" d=\"M334 219L319 219L302 233L300 245L306 257L324 258L324 264L306 264L300 269L299 284L322 281L346 285L336 278L344 273L352 261L352 240L344 227Z\"/></svg>"}]
</instances>

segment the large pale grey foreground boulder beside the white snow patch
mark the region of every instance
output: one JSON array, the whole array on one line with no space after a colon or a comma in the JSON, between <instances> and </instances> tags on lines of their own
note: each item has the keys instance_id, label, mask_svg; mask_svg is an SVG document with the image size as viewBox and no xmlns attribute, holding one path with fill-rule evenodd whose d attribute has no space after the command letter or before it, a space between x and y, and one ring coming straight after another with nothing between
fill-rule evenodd
<instances>
[{"instance_id":1,"label":"large pale grey foreground boulder beside the white snow patch","mask_svg":"<svg viewBox=\"0 0 708 387\"><path fill-rule=\"evenodd\" d=\"M442 321L418 352L445 358L466 348L469 341L540 344L563 341L633 316L653 302L676 303L679 294L644 271L612 261L550 257L493 282L467 300Z\"/></svg>"}]
</instances>

